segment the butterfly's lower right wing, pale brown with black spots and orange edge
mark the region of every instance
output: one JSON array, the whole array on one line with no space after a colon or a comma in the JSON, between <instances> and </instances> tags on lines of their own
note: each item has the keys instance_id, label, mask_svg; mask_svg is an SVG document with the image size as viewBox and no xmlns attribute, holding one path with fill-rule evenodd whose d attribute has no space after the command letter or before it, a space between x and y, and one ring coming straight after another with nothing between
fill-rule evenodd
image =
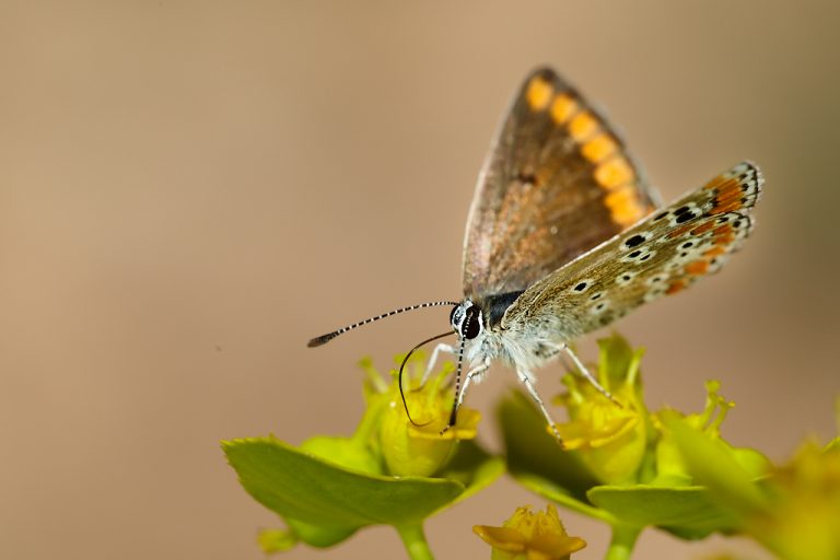
<instances>
[{"instance_id":1,"label":"butterfly's lower right wing, pale brown with black spots and orange edge","mask_svg":"<svg viewBox=\"0 0 840 560\"><path fill-rule=\"evenodd\" d=\"M749 235L761 184L755 165L736 165L532 285L502 327L568 340L681 291Z\"/></svg>"}]
</instances>

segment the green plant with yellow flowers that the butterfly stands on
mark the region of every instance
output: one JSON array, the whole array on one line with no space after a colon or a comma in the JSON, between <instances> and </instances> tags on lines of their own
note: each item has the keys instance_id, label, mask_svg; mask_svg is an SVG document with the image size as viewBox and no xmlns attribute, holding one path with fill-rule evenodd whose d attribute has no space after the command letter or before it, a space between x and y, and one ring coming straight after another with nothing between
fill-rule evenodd
<instances>
[{"instance_id":1,"label":"green plant with yellow flowers that the butterfly stands on","mask_svg":"<svg viewBox=\"0 0 840 560\"><path fill-rule=\"evenodd\" d=\"M363 361L368 408L353 435L315 436L300 447L275 436L223 442L243 487L287 523L260 534L262 548L329 547L364 526L386 524L410 558L432 558L423 521L492 483L506 465L532 492L608 524L608 560L631 558L646 528L692 540L747 535L788 560L840 558L840 439L826 447L807 442L790 464L772 465L721 436L733 402L720 395L720 383L707 383L699 412L651 412L643 351L618 335L598 343L598 382L615 401L567 374L565 392L555 399L568 416L557 425L562 447L518 390L497 407L504 443L499 456L472 441L475 410L463 409L441 436L452 365L420 388L421 357L409 361L405 393L412 418L428 424L408 421L395 372L386 384ZM585 545L565 534L552 508L538 514L521 508L501 527L475 530L495 559L564 559Z\"/></svg>"}]
</instances>

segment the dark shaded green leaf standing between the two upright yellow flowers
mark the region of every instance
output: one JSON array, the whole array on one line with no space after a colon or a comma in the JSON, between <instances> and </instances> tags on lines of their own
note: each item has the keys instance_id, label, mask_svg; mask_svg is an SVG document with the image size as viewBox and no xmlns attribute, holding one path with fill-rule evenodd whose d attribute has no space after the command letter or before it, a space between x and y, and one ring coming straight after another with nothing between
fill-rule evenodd
<instances>
[{"instance_id":1,"label":"dark shaded green leaf standing between the two upright yellow flowers","mask_svg":"<svg viewBox=\"0 0 840 560\"><path fill-rule=\"evenodd\" d=\"M534 475L553 482L563 492L586 502L586 490L598 485L586 467L558 445L546 420L523 393L515 390L497 409L508 470L514 478Z\"/></svg>"}]
</instances>

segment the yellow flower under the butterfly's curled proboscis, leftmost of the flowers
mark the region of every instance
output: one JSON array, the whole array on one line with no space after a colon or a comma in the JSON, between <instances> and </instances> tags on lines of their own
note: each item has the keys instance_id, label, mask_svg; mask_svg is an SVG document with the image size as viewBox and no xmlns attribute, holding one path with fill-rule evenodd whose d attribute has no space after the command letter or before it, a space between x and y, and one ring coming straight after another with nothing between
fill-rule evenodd
<instances>
[{"instance_id":1,"label":"yellow flower under the butterfly's curled proboscis, leftmost of the flowers","mask_svg":"<svg viewBox=\"0 0 840 560\"><path fill-rule=\"evenodd\" d=\"M457 423L441 434L452 411L454 395L443 383L452 373L452 369L451 363L445 364L439 375L420 387L422 358L410 360L406 365L406 407L417 425L412 424L406 415L397 372L392 372L395 381L383 395L387 404L380 424L382 454L392 475L431 476L446 465L458 441L476 436L481 416L466 407L458 410Z\"/></svg>"}]
</instances>

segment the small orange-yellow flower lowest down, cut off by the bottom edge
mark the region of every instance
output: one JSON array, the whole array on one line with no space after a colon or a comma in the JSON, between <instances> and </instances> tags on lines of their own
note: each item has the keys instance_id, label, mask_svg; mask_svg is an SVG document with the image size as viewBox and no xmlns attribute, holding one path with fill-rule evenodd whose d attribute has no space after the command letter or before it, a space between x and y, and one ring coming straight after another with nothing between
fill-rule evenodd
<instances>
[{"instance_id":1,"label":"small orange-yellow flower lowest down, cut off by the bottom edge","mask_svg":"<svg viewBox=\"0 0 840 560\"><path fill-rule=\"evenodd\" d=\"M551 504L536 514L529 505L517 508L501 527L476 525L472 532L493 547L492 560L569 560L586 546L582 538L565 533Z\"/></svg>"}]
</instances>

